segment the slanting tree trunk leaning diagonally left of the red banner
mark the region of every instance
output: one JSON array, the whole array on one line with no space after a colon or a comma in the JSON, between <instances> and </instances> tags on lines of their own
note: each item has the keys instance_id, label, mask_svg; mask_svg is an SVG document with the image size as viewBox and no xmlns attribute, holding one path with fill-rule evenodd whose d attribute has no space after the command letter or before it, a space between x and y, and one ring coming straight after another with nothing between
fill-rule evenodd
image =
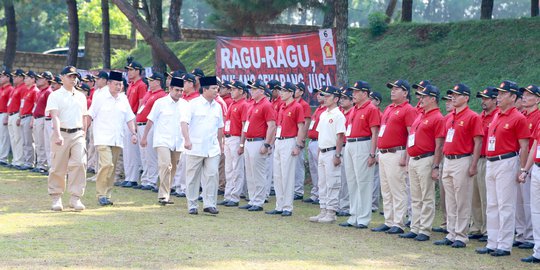
<instances>
[{"instance_id":1,"label":"slanting tree trunk leaning diagonally left of the red banner","mask_svg":"<svg viewBox=\"0 0 540 270\"><path fill-rule=\"evenodd\" d=\"M152 47L153 51L157 53L159 58L163 59L165 63L172 70L186 70L186 67L180 59L176 57L173 51L163 42L163 40L154 34L154 31L144 21L144 19L137 13L137 10L131 6L127 0L111 0L119 9L126 15L129 21L135 25L139 33L143 36L144 40Z\"/></svg>"}]
</instances>

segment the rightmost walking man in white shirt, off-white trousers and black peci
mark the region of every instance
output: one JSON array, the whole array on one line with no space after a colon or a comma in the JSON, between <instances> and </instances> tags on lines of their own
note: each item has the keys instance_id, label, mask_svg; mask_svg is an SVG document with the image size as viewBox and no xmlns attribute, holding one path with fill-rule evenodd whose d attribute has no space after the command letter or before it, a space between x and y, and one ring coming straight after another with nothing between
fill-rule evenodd
<instances>
[{"instance_id":1,"label":"rightmost walking man in white shirt, off-white trousers and black peci","mask_svg":"<svg viewBox=\"0 0 540 270\"><path fill-rule=\"evenodd\" d=\"M181 122L186 148L186 197L189 214L197 214L197 198L202 184L204 212L218 214L216 208L220 155L223 153L223 112L215 101L219 87L216 77L202 77L202 95L190 102L190 111Z\"/></svg>"}]
</instances>

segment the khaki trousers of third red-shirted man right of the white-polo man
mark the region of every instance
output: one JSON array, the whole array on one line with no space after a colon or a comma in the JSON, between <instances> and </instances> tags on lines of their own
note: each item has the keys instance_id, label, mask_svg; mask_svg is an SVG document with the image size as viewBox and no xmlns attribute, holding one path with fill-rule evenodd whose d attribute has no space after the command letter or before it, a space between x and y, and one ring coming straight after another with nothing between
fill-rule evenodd
<instances>
[{"instance_id":1,"label":"khaki trousers of third red-shirted man right of the white-polo man","mask_svg":"<svg viewBox=\"0 0 540 270\"><path fill-rule=\"evenodd\" d=\"M431 178L433 156L409 159L412 218L411 232L431 235L435 219L435 181Z\"/></svg>"}]
</instances>

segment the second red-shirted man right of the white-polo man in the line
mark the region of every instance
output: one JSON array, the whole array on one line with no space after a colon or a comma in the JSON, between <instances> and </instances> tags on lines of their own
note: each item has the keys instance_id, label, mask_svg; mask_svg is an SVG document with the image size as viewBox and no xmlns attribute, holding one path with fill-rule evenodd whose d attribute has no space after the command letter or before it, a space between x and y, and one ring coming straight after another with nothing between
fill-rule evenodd
<instances>
[{"instance_id":1,"label":"second red-shirted man right of the white-polo man in the line","mask_svg":"<svg viewBox=\"0 0 540 270\"><path fill-rule=\"evenodd\" d=\"M377 140L384 224L372 231L400 234L405 227L407 212L405 145L409 129L416 118L416 110L407 101L410 98L410 87L406 80L397 80L386 86L391 89L392 104L384 110Z\"/></svg>"}]
</instances>

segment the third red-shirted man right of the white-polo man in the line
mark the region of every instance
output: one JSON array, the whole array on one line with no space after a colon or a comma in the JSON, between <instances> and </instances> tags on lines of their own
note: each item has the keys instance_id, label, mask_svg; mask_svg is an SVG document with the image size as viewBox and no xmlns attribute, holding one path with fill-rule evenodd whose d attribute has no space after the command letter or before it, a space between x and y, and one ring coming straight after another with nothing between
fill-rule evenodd
<instances>
[{"instance_id":1,"label":"third red-shirted man right of the white-polo man in the line","mask_svg":"<svg viewBox=\"0 0 540 270\"><path fill-rule=\"evenodd\" d=\"M435 181L439 179L439 164L444 143L444 117L439 110L439 89L426 85L416 91L420 95L418 115L407 140L409 183L411 187L411 231L401 238L427 241L435 218Z\"/></svg>"}]
</instances>

